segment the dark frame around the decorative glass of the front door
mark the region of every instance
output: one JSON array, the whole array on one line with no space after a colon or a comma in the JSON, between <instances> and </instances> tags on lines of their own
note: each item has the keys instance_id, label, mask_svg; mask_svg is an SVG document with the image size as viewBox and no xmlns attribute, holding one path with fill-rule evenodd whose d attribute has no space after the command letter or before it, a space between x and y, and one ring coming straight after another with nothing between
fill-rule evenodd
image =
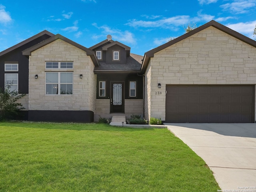
<instances>
[{"instance_id":1,"label":"dark frame around the decorative glass of the front door","mask_svg":"<svg viewBox=\"0 0 256 192\"><path fill-rule=\"evenodd\" d=\"M112 100L113 100L113 84L122 84L122 105L120 107L120 109L116 109L114 107L114 105L112 104ZM124 85L125 82L124 81L110 81L110 113L124 113Z\"/></svg>"}]
</instances>

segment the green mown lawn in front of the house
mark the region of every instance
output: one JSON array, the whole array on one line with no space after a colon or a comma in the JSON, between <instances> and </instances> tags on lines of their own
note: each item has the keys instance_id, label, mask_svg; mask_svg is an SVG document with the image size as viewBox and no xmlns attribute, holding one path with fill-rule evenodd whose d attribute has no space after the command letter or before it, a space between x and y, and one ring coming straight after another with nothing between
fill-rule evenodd
<instances>
[{"instance_id":1,"label":"green mown lawn in front of the house","mask_svg":"<svg viewBox=\"0 0 256 192\"><path fill-rule=\"evenodd\" d=\"M1 192L215 192L205 162L167 129L0 122Z\"/></svg>"}]
</instances>

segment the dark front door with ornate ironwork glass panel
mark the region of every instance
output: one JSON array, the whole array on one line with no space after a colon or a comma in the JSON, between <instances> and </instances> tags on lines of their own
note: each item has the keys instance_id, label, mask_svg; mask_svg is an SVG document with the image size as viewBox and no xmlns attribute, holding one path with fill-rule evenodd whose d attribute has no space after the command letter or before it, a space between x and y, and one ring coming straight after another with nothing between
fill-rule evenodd
<instances>
[{"instance_id":1,"label":"dark front door with ornate ironwork glass panel","mask_svg":"<svg viewBox=\"0 0 256 192\"><path fill-rule=\"evenodd\" d=\"M110 112L124 113L124 83L111 82Z\"/></svg>"}]
</instances>

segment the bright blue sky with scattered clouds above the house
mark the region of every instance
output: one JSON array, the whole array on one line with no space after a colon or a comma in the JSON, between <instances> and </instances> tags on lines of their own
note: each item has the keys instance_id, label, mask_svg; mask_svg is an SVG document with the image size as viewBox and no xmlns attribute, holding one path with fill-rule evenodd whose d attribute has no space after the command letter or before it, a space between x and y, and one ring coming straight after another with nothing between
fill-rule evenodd
<instances>
[{"instance_id":1,"label":"bright blue sky with scattered clouds above the house","mask_svg":"<svg viewBox=\"0 0 256 192\"><path fill-rule=\"evenodd\" d=\"M255 39L256 0L1 0L0 52L48 30L87 48L110 34L144 55L210 20Z\"/></svg>"}]
</instances>

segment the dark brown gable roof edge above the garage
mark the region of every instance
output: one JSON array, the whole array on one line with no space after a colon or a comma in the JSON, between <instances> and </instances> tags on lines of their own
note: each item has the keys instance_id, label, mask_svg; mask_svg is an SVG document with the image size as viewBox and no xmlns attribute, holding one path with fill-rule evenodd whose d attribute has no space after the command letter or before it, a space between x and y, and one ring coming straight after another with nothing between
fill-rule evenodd
<instances>
[{"instance_id":1,"label":"dark brown gable roof edge above the garage","mask_svg":"<svg viewBox=\"0 0 256 192\"><path fill-rule=\"evenodd\" d=\"M169 46L171 46L171 45L173 45L177 42L180 42L181 40L184 40L185 38L188 38L188 37L200 32L200 31L202 31L202 30L204 30L204 29L206 29L210 26L213 26L213 27L217 28L218 30L221 30L221 31L225 32L226 34L229 34L230 36L233 36L234 38L237 38L237 39L239 39L239 40L241 40L241 41L243 41L243 42L245 42L245 43L247 43L251 46L256 47L256 41L254 41L254 40L252 40L252 39L236 32L236 31L234 31L234 30L232 30L232 29L230 29L230 28L212 20L212 21L210 21L210 22L208 22L208 23L206 23L206 24L204 24L204 25L202 25L202 26L200 26L200 27L198 27L198 28L180 36L180 37L178 37L178 38L175 38L174 40L171 40L170 42L167 42L166 44L163 44L163 45L161 45L157 48L154 48L154 49L146 52L144 54L141 72L144 73L146 71L146 68L147 68L148 63L150 61L150 58L154 57L154 54L156 52L159 52L160 50L163 50L163 49L165 49L165 48L167 48L167 47L169 47Z\"/></svg>"}]
</instances>

